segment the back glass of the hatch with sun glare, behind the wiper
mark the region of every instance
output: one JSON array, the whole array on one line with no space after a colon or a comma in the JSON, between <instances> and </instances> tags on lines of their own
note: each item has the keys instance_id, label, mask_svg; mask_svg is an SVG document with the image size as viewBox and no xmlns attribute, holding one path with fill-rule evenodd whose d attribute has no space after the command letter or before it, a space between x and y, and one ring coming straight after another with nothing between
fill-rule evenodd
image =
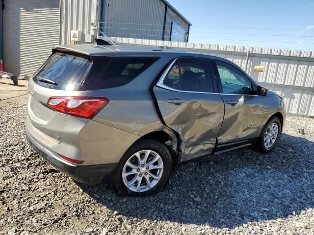
<instances>
[{"instance_id":1,"label":"back glass of the hatch with sun glare, behind the wiper","mask_svg":"<svg viewBox=\"0 0 314 235\"><path fill-rule=\"evenodd\" d=\"M34 81L51 89L78 90L91 65L92 61L88 56L56 52L34 74ZM49 79L56 85L39 81L37 77Z\"/></svg>"}]
</instances>

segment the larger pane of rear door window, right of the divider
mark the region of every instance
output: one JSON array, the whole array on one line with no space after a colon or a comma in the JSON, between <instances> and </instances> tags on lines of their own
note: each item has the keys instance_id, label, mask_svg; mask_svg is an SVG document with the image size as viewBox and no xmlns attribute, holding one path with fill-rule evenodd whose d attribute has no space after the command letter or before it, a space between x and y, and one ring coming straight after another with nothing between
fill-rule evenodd
<instances>
[{"instance_id":1,"label":"larger pane of rear door window, right of the divider","mask_svg":"<svg viewBox=\"0 0 314 235\"><path fill-rule=\"evenodd\" d=\"M183 91L213 92L208 61L205 59L179 59Z\"/></svg>"}]
</instances>

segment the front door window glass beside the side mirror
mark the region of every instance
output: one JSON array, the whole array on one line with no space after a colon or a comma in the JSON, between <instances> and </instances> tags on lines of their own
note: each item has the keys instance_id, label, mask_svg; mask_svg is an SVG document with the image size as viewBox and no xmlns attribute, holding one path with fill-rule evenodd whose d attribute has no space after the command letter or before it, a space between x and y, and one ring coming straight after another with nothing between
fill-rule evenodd
<instances>
[{"instance_id":1,"label":"front door window glass beside the side mirror","mask_svg":"<svg viewBox=\"0 0 314 235\"><path fill-rule=\"evenodd\" d=\"M251 81L235 67L216 61L224 94L251 94Z\"/></svg>"}]
</instances>

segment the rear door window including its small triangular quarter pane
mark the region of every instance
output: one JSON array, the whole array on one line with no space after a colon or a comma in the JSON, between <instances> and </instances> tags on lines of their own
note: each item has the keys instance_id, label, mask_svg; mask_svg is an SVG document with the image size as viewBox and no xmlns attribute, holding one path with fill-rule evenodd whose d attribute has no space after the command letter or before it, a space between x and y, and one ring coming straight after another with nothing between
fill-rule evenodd
<instances>
[{"instance_id":1,"label":"rear door window including its small triangular quarter pane","mask_svg":"<svg viewBox=\"0 0 314 235\"><path fill-rule=\"evenodd\" d=\"M187 92L213 92L206 59L180 58L164 78L163 84Z\"/></svg>"}]
</instances>

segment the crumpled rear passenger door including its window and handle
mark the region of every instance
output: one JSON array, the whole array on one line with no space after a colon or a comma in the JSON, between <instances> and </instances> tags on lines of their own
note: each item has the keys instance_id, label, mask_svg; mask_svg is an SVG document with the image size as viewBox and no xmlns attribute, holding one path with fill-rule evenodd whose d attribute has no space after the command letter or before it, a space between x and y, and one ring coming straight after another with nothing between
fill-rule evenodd
<instances>
[{"instance_id":1,"label":"crumpled rear passenger door including its window and handle","mask_svg":"<svg viewBox=\"0 0 314 235\"><path fill-rule=\"evenodd\" d=\"M223 100L210 66L203 58L177 58L154 87L164 122L180 135L182 161L210 154L222 124Z\"/></svg>"}]
</instances>

